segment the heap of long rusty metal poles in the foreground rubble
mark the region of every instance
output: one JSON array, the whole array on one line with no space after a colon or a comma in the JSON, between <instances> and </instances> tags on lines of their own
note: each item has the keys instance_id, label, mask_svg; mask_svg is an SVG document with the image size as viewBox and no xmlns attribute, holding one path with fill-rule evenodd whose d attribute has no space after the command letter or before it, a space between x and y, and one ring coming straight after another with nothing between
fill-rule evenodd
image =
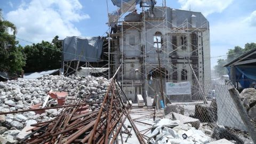
<instances>
[{"instance_id":1,"label":"heap of long rusty metal poles in the foreground rubble","mask_svg":"<svg viewBox=\"0 0 256 144\"><path fill-rule=\"evenodd\" d=\"M111 81L100 110L83 113L86 104L72 103L53 120L31 125L31 133L19 143L114 143L122 127L126 128L128 113L116 80Z\"/></svg>"}]
</instances>

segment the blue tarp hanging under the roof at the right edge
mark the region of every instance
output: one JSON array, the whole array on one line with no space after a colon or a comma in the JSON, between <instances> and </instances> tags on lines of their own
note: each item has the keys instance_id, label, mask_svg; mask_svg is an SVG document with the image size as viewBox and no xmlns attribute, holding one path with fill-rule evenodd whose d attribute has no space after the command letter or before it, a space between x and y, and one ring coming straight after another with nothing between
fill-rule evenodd
<instances>
[{"instance_id":1,"label":"blue tarp hanging under the roof at the right edge","mask_svg":"<svg viewBox=\"0 0 256 144\"><path fill-rule=\"evenodd\" d=\"M252 82L256 82L256 66L235 66L236 81L241 84L243 89L249 88ZM227 67L230 77L230 67Z\"/></svg>"}]
</instances>

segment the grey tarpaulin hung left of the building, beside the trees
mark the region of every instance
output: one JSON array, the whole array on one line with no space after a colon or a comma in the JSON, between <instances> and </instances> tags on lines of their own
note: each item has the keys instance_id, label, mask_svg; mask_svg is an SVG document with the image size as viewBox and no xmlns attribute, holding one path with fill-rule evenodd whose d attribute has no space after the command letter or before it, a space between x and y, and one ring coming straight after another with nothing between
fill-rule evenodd
<instances>
[{"instance_id":1,"label":"grey tarpaulin hung left of the building, beside the trees","mask_svg":"<svg viewBox=\"0 0 256 144\"><path fill-rule=\"evenodd\" d=\"M100 60L102 44L101 37L67 37L63 42L63 60L97 62Z\"/></svg>"}]
</instances>

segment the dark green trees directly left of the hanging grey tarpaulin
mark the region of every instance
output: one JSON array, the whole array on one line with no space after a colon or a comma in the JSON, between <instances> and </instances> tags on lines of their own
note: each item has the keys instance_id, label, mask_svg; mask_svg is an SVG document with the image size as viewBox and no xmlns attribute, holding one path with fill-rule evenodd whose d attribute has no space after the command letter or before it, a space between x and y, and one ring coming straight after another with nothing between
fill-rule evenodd
<instances>
[{"instance_id":1,"label":"dark green trees directly left of the hanging grey tarpaulin","mask_svg":"<svg viewBox=\"0 0 256 144\"><path fill-rule=\"evenodd\" d=\"M61 68L61 42L58 38L55 36L52 43L42 41L24 47L27 58L24 67L26 73Z\"/></svg>"}]
</instances>

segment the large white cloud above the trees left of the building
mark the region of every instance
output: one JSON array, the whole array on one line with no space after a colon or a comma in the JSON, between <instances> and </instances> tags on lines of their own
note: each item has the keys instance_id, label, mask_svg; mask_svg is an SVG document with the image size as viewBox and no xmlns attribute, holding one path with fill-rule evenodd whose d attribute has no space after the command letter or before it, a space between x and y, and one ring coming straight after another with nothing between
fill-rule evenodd
<instances>
[{"instance_id":1,"label":"large white cloud above the trees left of the building","mask_svg":"<svg viewBox=\"0 0 256 144\"><path fill-rule=\"evenodd\" d=\"M19 38L34 43L51 41L55 35L81 36L73 22L90 18L82 14L81 9L78 0L32 0L22 2L17 10L7 13L7 20L17 26Z\"/></svg>"}]
</instances>

